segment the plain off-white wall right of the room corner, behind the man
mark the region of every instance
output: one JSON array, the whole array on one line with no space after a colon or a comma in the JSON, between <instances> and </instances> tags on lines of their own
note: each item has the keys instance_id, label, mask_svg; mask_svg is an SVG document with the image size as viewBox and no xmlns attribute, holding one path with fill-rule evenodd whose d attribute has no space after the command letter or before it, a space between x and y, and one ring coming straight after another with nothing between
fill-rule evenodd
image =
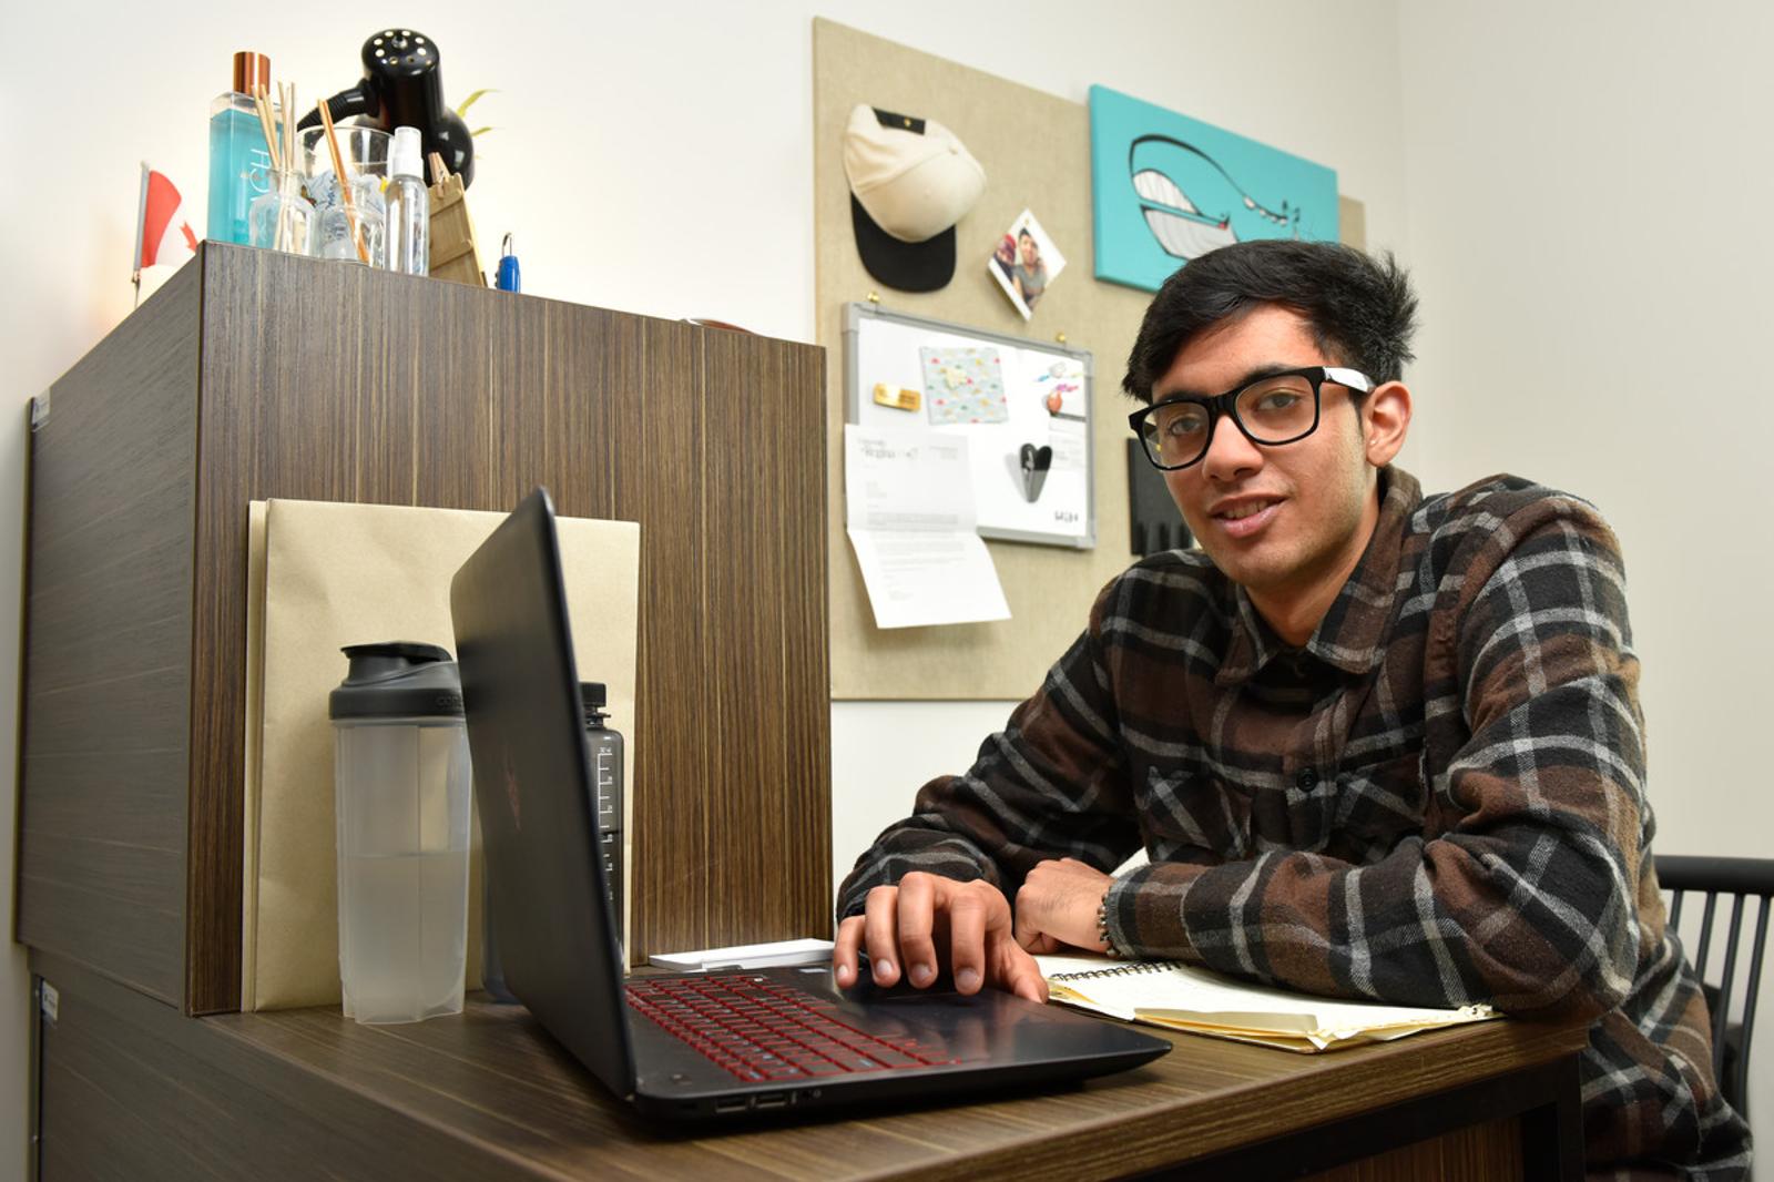
<instances>
[{"instance_id":1,"label":"plain off-white wall right of the room corner, behind the man","mask_svg":"<svg viewBox=\"0 0 1774 1182\"><path fill-rule=\"evenodd\" d=\"M1602 508L1627 556L1657 848L1765 857L1774 5L1400 18L1425 485L1510 470ZM1767 1131L1765 1042L1758 1058Z\"/></svg>"}]
</instances>

